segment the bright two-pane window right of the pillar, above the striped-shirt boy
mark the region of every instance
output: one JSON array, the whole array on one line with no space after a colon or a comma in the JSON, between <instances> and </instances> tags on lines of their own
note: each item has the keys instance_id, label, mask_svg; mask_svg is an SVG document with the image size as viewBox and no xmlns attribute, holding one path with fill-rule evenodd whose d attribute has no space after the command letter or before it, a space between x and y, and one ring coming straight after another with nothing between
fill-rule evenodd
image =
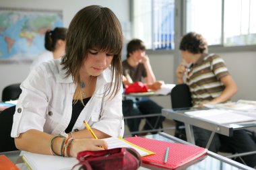
<instances>
[{"instance_id":1,"label":"bright two-pane window right of the pillar, above the striped-shirt boy","mask_svg":"<svg viewBox=\"0 0 256 170\"><path fill-rule=\"evenodd\" d=\"M209 45L256 44L256 0L187 0L186 9L186 32L202 34Z\"/></svg>"}]
</instances>

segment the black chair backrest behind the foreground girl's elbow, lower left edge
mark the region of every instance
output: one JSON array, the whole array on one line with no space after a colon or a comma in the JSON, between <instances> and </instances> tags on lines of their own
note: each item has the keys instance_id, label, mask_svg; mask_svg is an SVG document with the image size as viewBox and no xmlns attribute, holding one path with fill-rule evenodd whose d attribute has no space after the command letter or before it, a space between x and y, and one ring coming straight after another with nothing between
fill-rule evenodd
<instances>
[{"instance_id":1,"label":"black chair backrest behind the foreground girl's elbow, lower left edge","mask_svg":"<svg viewBox=\"0 0 256 170\"><path fill-rule=\"evenodd\" d=\"M13 105L0 112L0 153L18 150L15 146L14 138L11 138L11 127L15 107L16 105Z\"/></svg>"}]
</instances>

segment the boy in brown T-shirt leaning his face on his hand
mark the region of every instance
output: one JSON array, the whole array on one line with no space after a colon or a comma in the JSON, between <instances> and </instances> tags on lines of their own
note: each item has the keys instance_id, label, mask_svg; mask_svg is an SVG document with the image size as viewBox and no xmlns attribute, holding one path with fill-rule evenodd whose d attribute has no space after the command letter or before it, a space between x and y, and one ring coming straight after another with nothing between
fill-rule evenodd
<instances>
[{"instance_id":1,"label":"boy in brown T-shirt leaning his face on his hand","mask_svg":"<svg viewBox=\"0 0 256 170\"><path fill-rule=\"evenodd\" d=\"M133 39L127 44L127 59L123 60L123 85L131 85L137 81L143 81L147 87L152 90L157 90L161 87L162 82L156 81L156 77L150 65L150 59L146 54L146 46L139 39ZM133 101L123 101L124 116L160 114L162 107L148 98L138 99ZM133 106L133 108L131 108ZM130 110L130 112L127 112ZM146 124L143 130L153 130L162 128L164 117L154 116L147 117ZM139 118L128 119L127 124L131 132L139 131ZM152 132L155 134L156 132ZM146 135L141 133L139 135Z\"/></svg>"}]
</instances>

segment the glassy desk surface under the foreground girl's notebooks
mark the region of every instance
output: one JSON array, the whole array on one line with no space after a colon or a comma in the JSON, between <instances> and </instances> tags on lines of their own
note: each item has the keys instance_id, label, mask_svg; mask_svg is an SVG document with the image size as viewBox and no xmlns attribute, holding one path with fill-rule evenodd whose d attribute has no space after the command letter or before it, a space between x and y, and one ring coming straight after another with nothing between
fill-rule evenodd
<instances>
[{"instance_id":1,"label":"glassy desk surface under the foreground girl's notebooks","mask_svg":"<svg viewBox=\"0 0 256 170\"><path fill-rule=\"evenodd\" d=\"M190 144L188 142L185 142L179 138L175 138L174 136L171 136L169 134L166 134L164 132L160 134L154 134L154 135L148 135L146 138L154 138L157 140L164 140L168 142L179 142L182 144ZM13 161L13 163L22 163L22 159L20 159L20 151L13 151L13 152L7 152L7 153L0 153L0 155L6 155ZM20 165L19 164L19 165ZM26 169L26 165L24 166L24 163L22 163L23 166L19 166L21 170ZM142 165L139 169L158 169L157 167L152 167L150 165ZM207 152L207 155L203 157L202 159L198 159L196 161L193 161L192 163L189 163L183 167L178 168L179 169L187 169L187 170L194 170L194 169L205 169L205 170L216 170L216 169L222 169L222 170L241 170L241 169L247 169L247 170L253 170L250 167L247 167L246 165L243 165L241 163L237 163L235 161L232 161L231 159L227 159L226 157L222 157L221 155L217 155L215 153L212 153L210 151Z\"/></svg>"}]
</instances>

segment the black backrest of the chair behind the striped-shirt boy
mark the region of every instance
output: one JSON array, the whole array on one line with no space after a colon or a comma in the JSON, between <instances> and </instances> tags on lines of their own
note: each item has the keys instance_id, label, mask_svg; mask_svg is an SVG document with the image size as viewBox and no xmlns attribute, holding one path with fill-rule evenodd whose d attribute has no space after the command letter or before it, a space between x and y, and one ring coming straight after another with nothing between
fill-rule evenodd
<instances>
[{"instance_id":1,"label":"black backrest of the chair behind the striped-shirt boy","mask_svg":"<svg viewBox=\"0 0 256 170\"><path fill-rule=\"evenodd\" d=\"M179 84L172 88L170 92L172 109L192 107L191 92L186 84Z\"/></svg>"}]
</instances>

